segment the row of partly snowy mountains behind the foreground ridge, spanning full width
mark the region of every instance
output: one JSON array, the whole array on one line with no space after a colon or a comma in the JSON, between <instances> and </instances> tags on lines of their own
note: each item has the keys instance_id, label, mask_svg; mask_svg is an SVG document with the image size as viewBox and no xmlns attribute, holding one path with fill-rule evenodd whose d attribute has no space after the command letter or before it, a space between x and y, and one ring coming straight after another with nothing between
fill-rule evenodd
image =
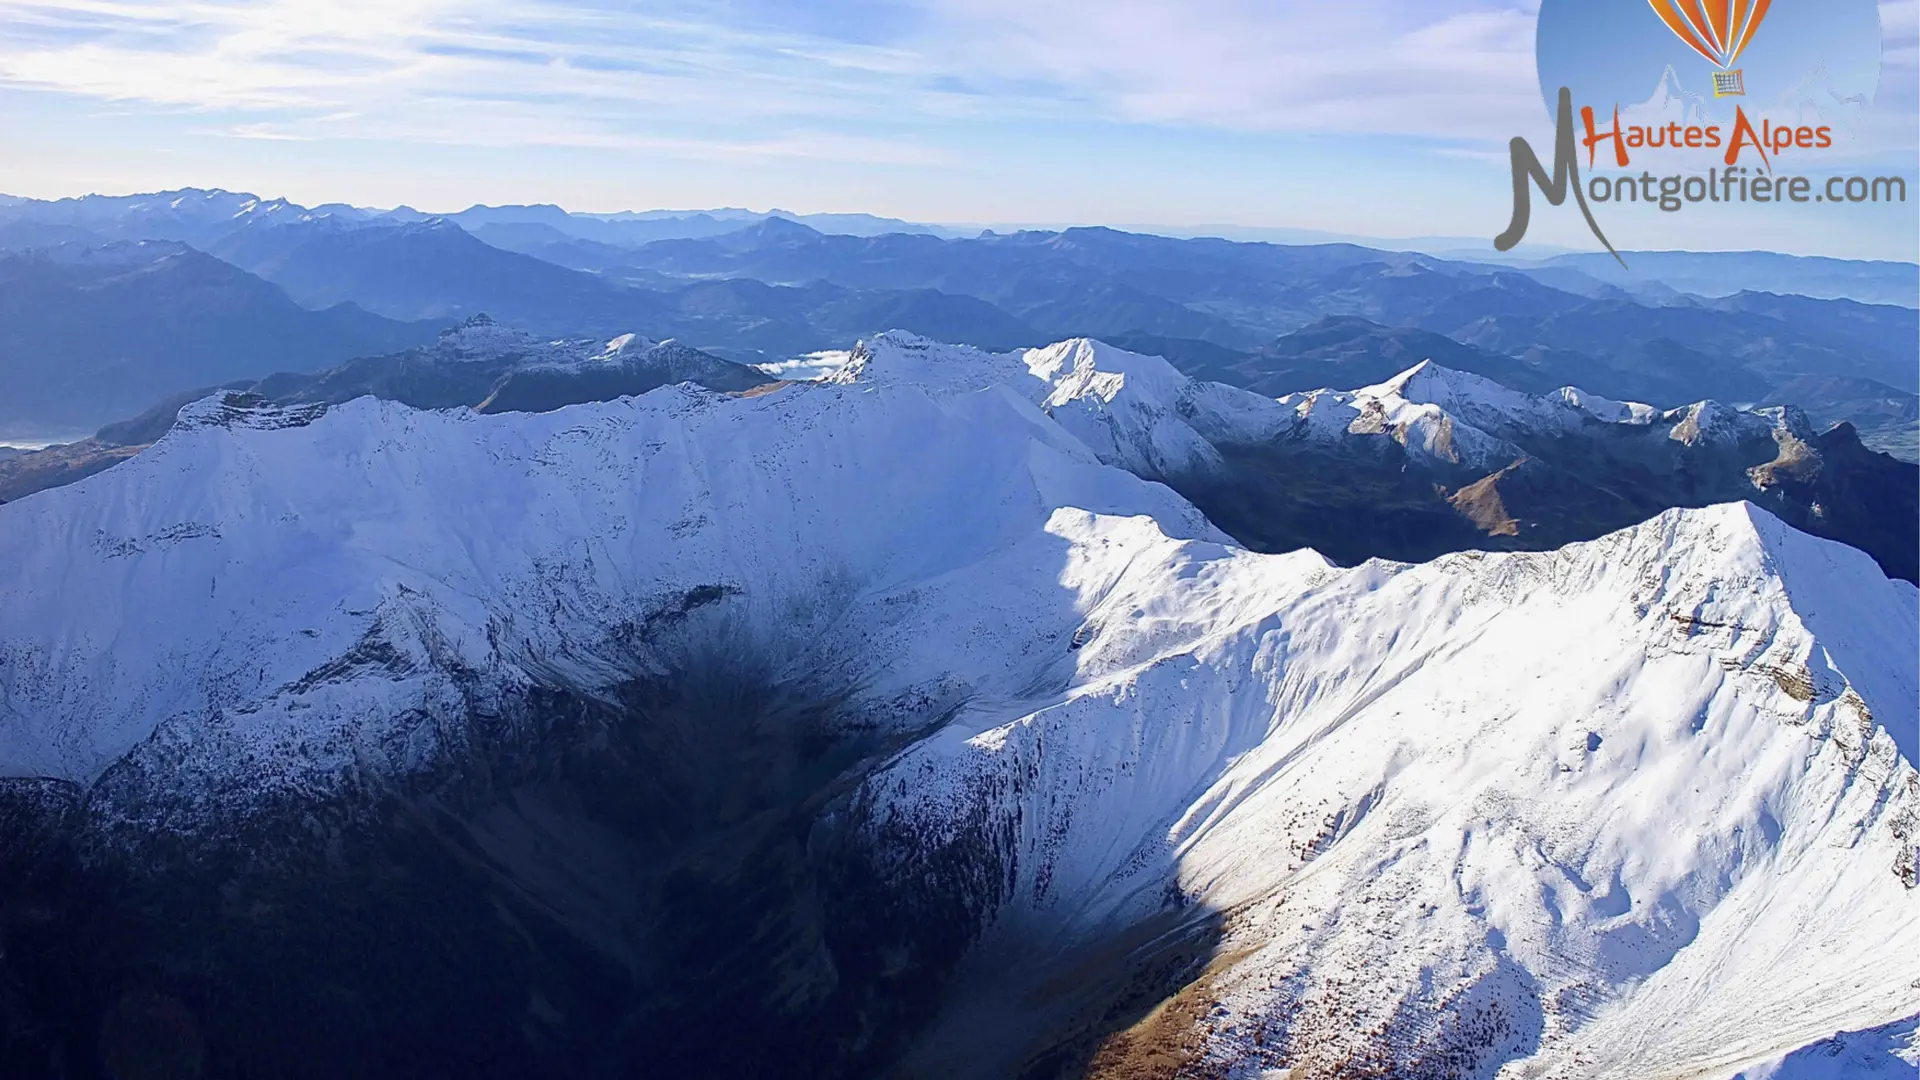
<instances>
[{"instance_id":1,"label":"row of partly snowy mountains behind the foreground ridge, spanning full width","mask_svg":"<svg viewBox=\"0 0 1920 1080\"><path fill-rule=\"evenodd\" d=\"M877 367L874 357L885 357ZM835 375L833 369L847 371ZM743 367L637 334L545 340L476 315L430 348L319 375L230 382L278 404L374 394L417 407L541 411L691 380L996 379L1108 465L1162 480L1240 544L1315 548L1350 565L1457 550L1546 550L1670 507L1753 500L1797 528L1920 578L1916 473L1847 425L1816 432L1791 405L1655 409L1574 386L1523 394L1432 361L1357 390L1281 400L1204 382L1092 340L985 354L889 332L854 352ZM152 442L186 394L58 455L0 465L0 498L73 482Z\"/></svg>"}]
</instances>

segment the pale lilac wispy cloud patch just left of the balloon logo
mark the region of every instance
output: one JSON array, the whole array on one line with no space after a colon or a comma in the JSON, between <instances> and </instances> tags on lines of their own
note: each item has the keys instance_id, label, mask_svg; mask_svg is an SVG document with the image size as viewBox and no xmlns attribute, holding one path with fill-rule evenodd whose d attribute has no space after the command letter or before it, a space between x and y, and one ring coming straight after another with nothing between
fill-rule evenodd
<instances>
[{"instance_id":1,"label":"pale lilac wispy cloud patch just left of the balloon logo","mask_svg":"<svg viewBox=\"0 0 1920 1080\"><path fill-rule=\"evenodd\" d=\"M1121 119L1488 138L1536 119L1534 15L1519 2L935 4L970 65L1052 73Z\"/></svg>"}]
</instances>

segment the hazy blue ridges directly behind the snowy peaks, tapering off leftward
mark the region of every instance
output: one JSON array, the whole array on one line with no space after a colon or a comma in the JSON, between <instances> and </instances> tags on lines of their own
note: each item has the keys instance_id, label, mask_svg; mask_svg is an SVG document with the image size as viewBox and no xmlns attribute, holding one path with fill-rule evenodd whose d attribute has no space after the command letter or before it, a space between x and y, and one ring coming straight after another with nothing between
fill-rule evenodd
<instances>
[{"instance_id":1,"label":"hazy blue ridges directly behind the snowy peaks, tapering off leftward","mask_svg":"<svg viewBox=\"0 0 1920 1080\"><path fill-rule=\"evenodd\" d=\"M1524 273L1338 244L1165 240L1106 229L947 242L758 229L649 244L634 263L664 275L941 288L979 296L1043 334L1142 332L1242 352L1327 315L1357 315L1530 354L1536 365L1580 369L1597 392L1655 402L1757 400L1803 375L1920 388L1912 307L1770 294L1644 304L1624 292L1586 296ZM1596 365L1609 373L1596 377Z\"/></svg>"}]
</instances>

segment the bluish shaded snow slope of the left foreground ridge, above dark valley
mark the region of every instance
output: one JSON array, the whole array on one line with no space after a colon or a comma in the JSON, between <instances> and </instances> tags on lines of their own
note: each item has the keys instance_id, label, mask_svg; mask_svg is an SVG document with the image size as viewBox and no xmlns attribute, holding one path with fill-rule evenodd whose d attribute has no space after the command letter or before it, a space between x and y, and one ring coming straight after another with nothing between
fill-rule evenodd
<instances>
[{"instance_id":1,"label":"bluish shaded snow slope of the left foreground ridge, above dark valley","mask_svg":"<svg viewBox=\"0 0 1920 1080\"><path fill-rule=\"evenodd\" d=\"M1025 653L1075 625L1014 615L1052 582L1060 505L1223 540L1004 388L684 386L538 419L209 398L125 469L0 507L17 567L0 582L0 771L92 780L225 711L246 717L221 728L227 751L305 782L413 740L376 728L432 707L447 665L503 686L630 676L620 630L703 586L820 648L885 650L883 692L1021 684L1056 659ZM958 598L950 623L935 605ZM334 671L355 650L405 659Z\"/></svg>"}]
</instances>

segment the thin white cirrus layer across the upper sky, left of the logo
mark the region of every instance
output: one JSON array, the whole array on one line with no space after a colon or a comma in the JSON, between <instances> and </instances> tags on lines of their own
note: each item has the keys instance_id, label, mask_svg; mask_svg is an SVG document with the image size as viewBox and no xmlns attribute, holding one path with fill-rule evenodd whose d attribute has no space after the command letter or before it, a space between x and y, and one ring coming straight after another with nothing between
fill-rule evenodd
<instances>
[{"instance_id":1,"label":"thin white cirrus layer across the upper sky, left of the logo","mask_svg":"<svg viewBox=\"0 0 1920 1080\"><path fill-rule=\"evenodd\" d=\"M854 6L856 4L856 6ZM837 19L835 13L843 17ZM941 125L1503 138L1524 0L0 0L0 85L252 138L937 163Z\"/></svg>"}]
</instances>

